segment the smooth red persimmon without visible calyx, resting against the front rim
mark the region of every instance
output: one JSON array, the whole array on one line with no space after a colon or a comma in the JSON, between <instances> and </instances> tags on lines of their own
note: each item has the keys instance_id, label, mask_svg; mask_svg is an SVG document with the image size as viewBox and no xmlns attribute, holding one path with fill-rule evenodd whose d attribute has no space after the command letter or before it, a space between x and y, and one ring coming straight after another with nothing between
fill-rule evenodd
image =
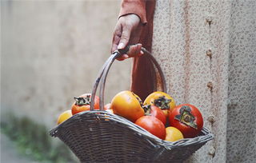
<instances>
[{"instance_id":1,"label":"smooth red persimmon without visible calyx, resting against the front rim","mask_svg":"<svg viewBox=\"0 0 256 163\"><path fill-rule=\"evenodd\" d=\"M166 138L166 127L163 125L162 121L158 120L156 117L143 116L138 118L138 120L135 121L135 124L146 129L148 132L160 139Z\"/></svg>"}]
</instances>

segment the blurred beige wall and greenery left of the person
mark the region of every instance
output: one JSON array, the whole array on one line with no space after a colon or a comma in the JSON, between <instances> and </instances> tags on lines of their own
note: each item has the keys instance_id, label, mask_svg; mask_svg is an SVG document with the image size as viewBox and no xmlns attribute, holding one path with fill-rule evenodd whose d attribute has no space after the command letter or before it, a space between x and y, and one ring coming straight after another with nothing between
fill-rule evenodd
<instances>
[{"instance_id":1,"label":"blurred beige wall and greenery left of the person","mask_svg":"<svg viewBox=\"0 0 256 163\"><path fill-rule=\"evenodd\" d=\"M1 0L1 162L78 162L48 132L73 97L91 92L120 3ZM114 63L106 102L130 88L130 64Z\"/></svg>"}]
</instances>

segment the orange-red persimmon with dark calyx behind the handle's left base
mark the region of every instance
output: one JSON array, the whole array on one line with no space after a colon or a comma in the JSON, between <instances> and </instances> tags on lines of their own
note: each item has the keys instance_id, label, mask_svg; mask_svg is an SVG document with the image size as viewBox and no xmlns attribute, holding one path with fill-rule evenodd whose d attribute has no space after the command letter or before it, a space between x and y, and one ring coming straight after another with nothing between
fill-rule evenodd
<instances>
[{"instance_id":1,"label":"orange-red persimmon with dark calyx behind the handle's left base","mask_svg":"<svg viewBox=\"0 0 256 163\"><path fill-rule=\"evenodd\" d=\"M82 111L90 110L90 93L82 94L79 97L74 97L74 104L71 107L72 114L76 114ZM99 97L94 98L94 109L99 109Z\"/></svg>"}]
</instances>

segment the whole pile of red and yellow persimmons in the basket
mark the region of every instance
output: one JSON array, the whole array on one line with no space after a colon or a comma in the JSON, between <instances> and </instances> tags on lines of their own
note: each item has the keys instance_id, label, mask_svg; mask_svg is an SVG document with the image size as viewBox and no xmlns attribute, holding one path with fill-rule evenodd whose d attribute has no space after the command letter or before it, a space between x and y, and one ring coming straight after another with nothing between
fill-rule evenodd
<instances>
[{"instance_id":1,"label":"whole pile of red and yellow persimmons in the basket","mask_svg":"<svg viewBox=\"0 0 256 163\"><path fill-rule=\"evenodd\" d=\"M74 104L58 117L58 124L76 113L90 110L90 93L74 97ZM94 109L99 109L99 97L94 98ZM163 92L151 93L142 102L131 91L116 94L104 109L133 121L154 136L166 141L178 141L198 136L203 119L200 111L190 104L175 105L173 97Z\"/></svg>"}]
</instances>

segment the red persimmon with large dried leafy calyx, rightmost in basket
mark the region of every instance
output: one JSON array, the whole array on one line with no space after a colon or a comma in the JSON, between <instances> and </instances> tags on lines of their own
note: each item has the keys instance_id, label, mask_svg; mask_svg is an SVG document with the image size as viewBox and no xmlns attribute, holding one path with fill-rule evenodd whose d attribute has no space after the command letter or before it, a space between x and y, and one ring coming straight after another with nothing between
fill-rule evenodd
<instances>
[{"instance_id":1,"label":"red persimmon with large dried leafy calyx, rightmost in basket","mask_svg":"<svg viewBox=\"0 0 256 163\"><path fill-rule=\"evenodd\" d=\"M203 126L202 114L194 105L176 106L169 115L170 125L179 129L185 138L195 137Z\"/></svg>"}]
</instances>

